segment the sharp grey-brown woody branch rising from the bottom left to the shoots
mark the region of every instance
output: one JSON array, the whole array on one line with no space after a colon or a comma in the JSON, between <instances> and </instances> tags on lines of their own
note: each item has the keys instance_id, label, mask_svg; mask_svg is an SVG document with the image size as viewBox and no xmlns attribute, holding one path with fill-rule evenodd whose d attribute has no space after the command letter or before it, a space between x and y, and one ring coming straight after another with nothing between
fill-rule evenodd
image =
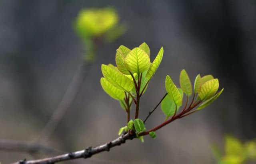
<instances>
[{"instance_id":1,"label":"sharp grey-brown woody branch rising from the bottom left to the shoots","mask_svg":"<svg viewBox=\"0 0 256 164\"><path fill-rule=\"evenodd\" d=\"M121 135L117 139L110 141L106 144L102 144L97 147L88 147L85 150L80 150L76 152L70 152L50 158L44 158L40 160L21 160L18 162L15 162L13 164L54 164L57 162L62 162L66 160L72 160L76 158L90 158L94 154L98 154L103 151L109 151L110 148L119 146L126 142L126 140L132 140L136 137L135 134L132 133L126 133L125 135Z\"/></svg>"}]
</instances>

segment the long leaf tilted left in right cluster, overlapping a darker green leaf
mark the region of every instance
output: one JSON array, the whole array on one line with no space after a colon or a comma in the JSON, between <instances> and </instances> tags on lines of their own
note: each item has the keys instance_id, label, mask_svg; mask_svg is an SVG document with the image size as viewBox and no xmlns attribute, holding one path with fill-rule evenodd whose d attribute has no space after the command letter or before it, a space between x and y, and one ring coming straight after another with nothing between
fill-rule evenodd
<instances>
[{"instance_id":1,"label":"long leaf tilted left in right cluster, overlapping a darker green leaf","mask_svg":"<svg viewBox=\"0 0 256 164\"><path fill-rule=\"evenodd\" d=\"M175 84L172 82L172 79L170 76L166 76L165 79L165 88L168 93L168 96L171 98L171 100L174 101L176 106L182 105L182 97L180 95L180 92L178 88L175 86Z\"/></svg>"}]
</instances>

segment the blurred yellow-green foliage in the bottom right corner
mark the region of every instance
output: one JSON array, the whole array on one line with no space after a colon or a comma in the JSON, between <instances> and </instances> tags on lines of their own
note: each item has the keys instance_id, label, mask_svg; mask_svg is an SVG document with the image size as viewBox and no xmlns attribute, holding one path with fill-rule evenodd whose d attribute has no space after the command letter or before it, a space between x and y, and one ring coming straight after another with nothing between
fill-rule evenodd
<instances>
[{"instance_id":1,"label":"blurred yellow-green foliage in the bottom right corner","mask_svg":"<svg viewBox=\"0 0 256 164\"><path fill-rule=\"evenodd\" d=\"M249 161L256 161L256 141L242 143L239 139L225 137L225 153L222 155L216 146L212 146L217 164L246 164Z\"/></svg>"}]
</instances>

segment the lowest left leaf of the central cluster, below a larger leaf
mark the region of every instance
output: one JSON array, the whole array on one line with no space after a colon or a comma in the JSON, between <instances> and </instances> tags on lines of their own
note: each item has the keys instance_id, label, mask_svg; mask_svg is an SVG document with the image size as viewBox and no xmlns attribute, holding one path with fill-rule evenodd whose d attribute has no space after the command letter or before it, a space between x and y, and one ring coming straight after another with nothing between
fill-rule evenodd
<instances>
[{"instance_id":1,"label":"lowest left leaf of the central cluster, below a larger leaf","mask_svg":"<svg viewBox=\"0 0 256 164\"><path fill-rule=\"evenodd\" d=\"M113 99L115 100L123 100L124 99L124 91L113 86L106 78L100 78L100 84L103 90Z\"/></svg>"}]
</instances>

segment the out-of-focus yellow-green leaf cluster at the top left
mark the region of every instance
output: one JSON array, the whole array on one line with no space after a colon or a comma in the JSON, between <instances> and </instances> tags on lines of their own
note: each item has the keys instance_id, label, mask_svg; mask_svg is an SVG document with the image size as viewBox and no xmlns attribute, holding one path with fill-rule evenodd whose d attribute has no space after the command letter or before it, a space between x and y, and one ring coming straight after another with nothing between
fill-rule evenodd
<instances>
[{"instance_id":1,"label":"out-of-focus yellow-green leaf cluster at the top left","mask_svg":"<svg viewBox=\"0 0 256 164\"><path fill-rule=\"evenodd\" d=\"M86 61L93 61L98 45L102 42L112 42L126 30L118 24L119 17L114 8L89 8L78 13L75 21L75 31L86 47Z\"/></svg>"}]
</instances>

